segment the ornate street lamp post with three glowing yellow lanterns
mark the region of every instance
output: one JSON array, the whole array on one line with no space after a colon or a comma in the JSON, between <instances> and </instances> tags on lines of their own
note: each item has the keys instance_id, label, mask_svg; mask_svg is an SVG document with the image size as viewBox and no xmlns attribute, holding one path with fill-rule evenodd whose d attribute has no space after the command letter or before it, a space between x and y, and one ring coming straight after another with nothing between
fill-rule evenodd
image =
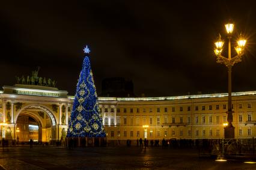
<instances>
[{"instance_id":1,"label":"ornate street lamp post with three glowing yellow lanterns","mask_svg":"<svg viewBox=\"0 0 256 170\"><path fill-rule=\"evenodd\" d=\"M232 32L234 29L233 23L227 23L225 25L225 28L227 30L228 34L228 58L221 55L222 53L222 47L224 44L224 41L221 39L221 35L219 35L218 41L215 43L215 54L217 56L217 62L224 64L228 68L228 125L224 127L225 132L225 138L226 139L232 139L234 138L234 126L232 124L233 121L233 111L232 111L232 103L231 103L231 68L234 64L237 62L242 61L242 56L244 55L244 49L245 49L245 43L246 40L242 37L242 35L239 36L239 40L237 40L237 46L235 47L237 55L231 58L231 38L232 38Z\"/></svg>"}]
</instances>

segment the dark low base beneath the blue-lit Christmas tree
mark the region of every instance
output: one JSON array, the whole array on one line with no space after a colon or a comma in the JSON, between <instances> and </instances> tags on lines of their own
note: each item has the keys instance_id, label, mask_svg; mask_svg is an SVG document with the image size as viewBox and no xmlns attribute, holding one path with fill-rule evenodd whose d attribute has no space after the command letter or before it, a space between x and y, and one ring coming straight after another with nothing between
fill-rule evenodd
<instances>
[{"instance_id":1,"label":"dark low base beneath the blue-lit Christmas tree","mask_svg":"<svg viewBox=\"0 0 256 170\"><path fill-rule=\"evenodd\" d=\"M105 147L107 145L106 138L90 138L90 137L76 137L67 138L68 147Z\"/></svg>"}]
</instances>

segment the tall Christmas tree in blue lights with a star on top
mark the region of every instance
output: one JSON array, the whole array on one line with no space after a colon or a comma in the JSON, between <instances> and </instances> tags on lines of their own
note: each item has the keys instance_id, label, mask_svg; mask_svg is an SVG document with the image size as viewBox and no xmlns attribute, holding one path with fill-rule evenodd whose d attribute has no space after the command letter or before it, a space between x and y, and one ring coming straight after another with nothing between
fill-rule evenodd
<instances>
[{"instance_id":1,"label":"tall Christmas tree in blue lights with a star on top","mask_svg":"<svg viewBox=\"0 0 256 170\"><path fill-rule=\"evenodd\" d=\"M76 87L67 137L106 137L87 46L84 52L85 58Z\"/></svg>"}]
</instances>

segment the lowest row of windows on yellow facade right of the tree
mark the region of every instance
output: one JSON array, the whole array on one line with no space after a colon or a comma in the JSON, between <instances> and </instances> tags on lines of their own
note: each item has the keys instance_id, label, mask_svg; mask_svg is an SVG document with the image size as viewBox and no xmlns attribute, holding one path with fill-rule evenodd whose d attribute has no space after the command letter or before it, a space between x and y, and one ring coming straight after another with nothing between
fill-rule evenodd
<instances>
[{"instance_id":1,"label":"lowest row of windows on yellow facade right of the tree","mask_svg":"<svg viewBox=\"0 0 256 170\"><path fill-rule=\"evenodd\" d=\"M248 129L247 132L248 132L248 135L249 135L249 136L252 135L252 130L251 130L251 129ZM145 138L145 133L147 133L147 132L144 132L144 136L143 136L144 138ZM140 133L139 133L139 130L138 130L138 131L136 132L136 137L139 138L139 137L140 137L139 135L140 135ZM172 130L171 135L172 135L172 136L175 135L175 130ZM179 135L180 135L180 136L183 136L183 130L180 130L180 134L179 134ZM201 135L202 135L202 136L206 136L206 130L202 130L202 131L201 131ZM216 136L220 136L220 130L219 130L219 129L216 129L215 135L216 135ZM242 129L239 129L239 135L240 135L240 136L243 135L243 130L242 130ZM117 132L117 136L118 136L118 137L120 136L120 131ZM126 130L124 130L123 136L124 136L124 137L127 137L127 131L126 131ZM153 137L153 130L150 130L149 136L150 136L150 137ZM156 131L156 136L160 136L160 130L157 130L157 131ZM168 131L167 131L167 130L164 131L164 136L165 136L165 137L168 136ZM187 130L187 136L191 136L191 130ZM199 130L195 130L195 136L199 136ZM212 130L212 129L209 130L209 136L213 136L213 130ZM114 131L111 131L111 137L115 137ZM130 137L133 137L133 131L130 131Z\"/></svg>"}]
</instances>

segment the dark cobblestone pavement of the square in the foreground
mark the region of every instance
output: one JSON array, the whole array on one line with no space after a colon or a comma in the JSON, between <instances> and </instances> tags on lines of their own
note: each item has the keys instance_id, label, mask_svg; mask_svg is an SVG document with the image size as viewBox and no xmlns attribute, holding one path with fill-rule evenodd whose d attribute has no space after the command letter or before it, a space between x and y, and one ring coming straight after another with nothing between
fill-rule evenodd
<instances>
[{"instance_id":1,"label":"dark cobblestone pavement of the square in the foreground","mask_svg":"<svg viewBox=\"0 0 256 170\"><path fill-rule=\"evenodd\" d=\"M103 147L73 148L28 146L0 148L0 169L246 169L256 164L243 160L215 162L198 158L195 149Z\"/></svg>"}]
</instances>

